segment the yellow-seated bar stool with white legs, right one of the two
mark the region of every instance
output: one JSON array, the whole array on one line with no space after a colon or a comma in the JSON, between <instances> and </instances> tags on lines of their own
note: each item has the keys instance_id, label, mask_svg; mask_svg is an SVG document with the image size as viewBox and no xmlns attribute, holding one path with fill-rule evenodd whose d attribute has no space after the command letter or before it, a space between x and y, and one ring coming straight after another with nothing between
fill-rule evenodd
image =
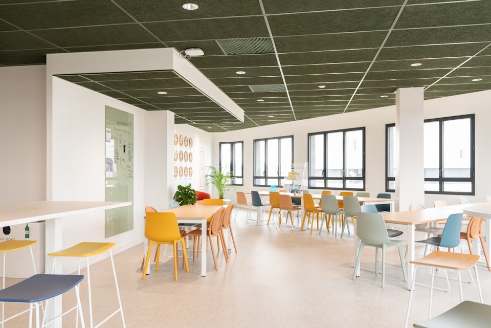
<instances>
[{"instance_id":1,"label":"yellow-seated bar stool with white legs, right one of the two","mask_svg":"<svg viewBox=\"0 0 491 328\"><path fill-rule=\"evenodd\" d=\"M82 257L85 257L85 260L87 262L88 315L90 318L91 328L99 327L104 322L109 320L109 318L116 315L118 312L121 313L121 319L123 320L123 328L126 328L126 324L124 323L123 307L121 305L121 296L119 294L119 288L118 288L118 279L116 278L116 270L114 268L113 251L111 250L111 248L113 248L114 245L115 245L114 243L80 243L70 248L61 250L59 252L48 254L48 256L54 256L52 273L55 270L56 257L67 256L67 257L78 257L78 274L80 274L80 265L81 265ZM114 282L116 284L116 294L118 295L119 308L115 312L111 313L107 318L105 318L100 323L98 323L96 326L94 326L94 321L92 319L91 272L89 268L88 258L91 256L102 254L107 251L109 251L109 255L111 258L111 266L113 267ZM78 326L78 311L77 311L77 326Z\"/></svg>"}]
</instances>

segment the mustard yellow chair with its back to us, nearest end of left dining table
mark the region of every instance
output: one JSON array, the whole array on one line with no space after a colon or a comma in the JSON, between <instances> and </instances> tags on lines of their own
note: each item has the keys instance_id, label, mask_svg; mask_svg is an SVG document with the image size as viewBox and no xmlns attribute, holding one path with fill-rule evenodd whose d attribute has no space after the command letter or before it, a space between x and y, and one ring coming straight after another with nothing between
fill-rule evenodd
<instances>
[{"instance_id":1,"label":"mustard yellow chair with its back to us, nearest end of left dining table","mask_svg":"<svg viewBox=\"0 0 491 328\"><path fill-rule=\"evenodd\" d=\"M157 265L155 265L155 271L159 271L159 258L160 258L160 245L172 245L174 249L174 280L177 280L177 248L179 242L183 246L183 258L186 265L186 272L189 272L188 267L188 255L186 253L186 239L181 236L179 226L177 225L177 218L172 212L157 212L147 213L147 219L145 221L145 237L148 238L148 251L145 258L145 267L143 268L143 276L145 279L148 259L153 245L157 245Z\"/></svg>"}]
</instances>

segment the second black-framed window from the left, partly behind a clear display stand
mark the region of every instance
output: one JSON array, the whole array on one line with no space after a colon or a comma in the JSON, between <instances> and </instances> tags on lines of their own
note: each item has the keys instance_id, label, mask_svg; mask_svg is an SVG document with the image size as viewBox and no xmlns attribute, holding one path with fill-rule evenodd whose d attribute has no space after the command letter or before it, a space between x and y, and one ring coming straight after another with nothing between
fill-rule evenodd
<instances>
[{"instance_id":1,"label":"second black-framed window from the left, partly behind a clear display stand","mask_svg":"<svg viewBox=\"0 0 491 328\"><path fill-rule=\"evenodd\" d=\"M254 186L282 186L292 163L293 136L254 140Z\"/></svg>"}]
</instances>

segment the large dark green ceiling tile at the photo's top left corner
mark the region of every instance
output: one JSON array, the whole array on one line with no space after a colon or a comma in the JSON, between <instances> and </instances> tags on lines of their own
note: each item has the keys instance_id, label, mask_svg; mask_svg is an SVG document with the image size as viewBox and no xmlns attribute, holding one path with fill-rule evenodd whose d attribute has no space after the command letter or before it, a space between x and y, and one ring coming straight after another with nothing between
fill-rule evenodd
<instances>
[{"instance_id":1,"label":"large dark green ceiling tile at the photo's top left corner","mask_svg":"<svg viewBox=\"0 0 491 328\"><path fill-rule=\"evenodd\" d=\"M133 23L130 17L109 0L2 6L0 18L25 30Z\"/></svg>"}]
</instances>

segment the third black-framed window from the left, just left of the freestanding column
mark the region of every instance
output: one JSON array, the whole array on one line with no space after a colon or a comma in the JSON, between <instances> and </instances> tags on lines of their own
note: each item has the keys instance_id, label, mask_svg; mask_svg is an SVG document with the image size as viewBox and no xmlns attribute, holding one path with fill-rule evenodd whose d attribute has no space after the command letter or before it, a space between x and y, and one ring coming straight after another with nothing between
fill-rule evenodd
<instances>
[{"instance_id":1,"label":"third black-framed window from the left, just left of the freestanding column","mask_svg":"<svg viewBox=\"0 0 491 328\"><path fill-rule=\"evenodd\" d=\"M365 128L308 134L308 187L365 190Z\"/></svg>"}]
</instances>

